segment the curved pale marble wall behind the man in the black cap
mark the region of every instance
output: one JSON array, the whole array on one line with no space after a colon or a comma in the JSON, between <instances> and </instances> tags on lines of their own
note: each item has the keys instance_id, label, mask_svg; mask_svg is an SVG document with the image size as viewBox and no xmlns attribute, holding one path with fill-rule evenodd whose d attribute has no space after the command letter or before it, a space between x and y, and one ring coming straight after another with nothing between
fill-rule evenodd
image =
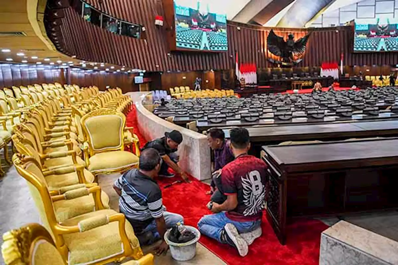
<instances>
[{"instance_id":1,"label":"curved pale marble wall behind the man in the black cap","mask_svg":"<svg viewBox=\"0 0 398 265\"><path fill-rule=\"evenodd\" d=\"M179 166L199 180L210 178L210 148L207 146L207 137L204 134L159 118L148 111L142 101L136 101L135 105L137 108L138 126L146 140L159 138L164 136L166 132L178 130L183 135L183 141L178 147Z\"/></svg>"}]
</instances>

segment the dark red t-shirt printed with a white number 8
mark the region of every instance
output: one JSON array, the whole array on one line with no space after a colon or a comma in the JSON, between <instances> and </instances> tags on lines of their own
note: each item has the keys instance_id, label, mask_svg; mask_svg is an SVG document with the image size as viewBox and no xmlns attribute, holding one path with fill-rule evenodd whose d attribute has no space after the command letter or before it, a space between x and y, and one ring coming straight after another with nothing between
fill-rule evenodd
<instances>
[{"instance_id":1,"label":"dark red t-shirt printed with a white number 8","mask_svg":"<svg viewBox=\"0 0 398 265\"><path fill-rule=\"evenodd\" d=\"M246 154L238 156L222 168L220 178L220 191L224 195L236 193L238 197L238 206L226 216L238 222L261 219L268 180L265 162Z\"/></svg>"}]
</instances>

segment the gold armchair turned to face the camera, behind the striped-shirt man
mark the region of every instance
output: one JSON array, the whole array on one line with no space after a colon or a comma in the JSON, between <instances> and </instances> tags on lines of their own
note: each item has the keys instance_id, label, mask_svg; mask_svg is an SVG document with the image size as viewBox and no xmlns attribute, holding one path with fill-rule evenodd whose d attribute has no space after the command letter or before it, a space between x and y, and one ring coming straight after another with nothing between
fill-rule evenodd
<instances>
[{"instance_id":1,"label":"gold armchair turned to face the camera, behind the striped-shirt man","mask_svg":"<svg viewBox=\"0 0 398 265\"><path fill-rule=\"evenodd\" d=\"M126 117L113 109L94 110L82 117L84 159L94 175L124 172L138 165L138 156L124 151Z\"/></svg>"}]
</instances>

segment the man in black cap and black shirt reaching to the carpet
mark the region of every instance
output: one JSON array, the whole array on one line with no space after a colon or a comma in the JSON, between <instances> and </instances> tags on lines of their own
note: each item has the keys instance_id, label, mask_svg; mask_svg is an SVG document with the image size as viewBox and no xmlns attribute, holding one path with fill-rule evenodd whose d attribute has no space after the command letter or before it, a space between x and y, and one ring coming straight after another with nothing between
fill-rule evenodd
<instances>
[{"instance_id":1,"label":"man in black cap and black shirt reaching to the carpet","mask_svg":"<svg viewBox=\"0 0 398 265\"><path fill-rule=\"evenodd\" d=\"M182 134L179 131L173 130L170 133L165 133L162 138L147 142L142 148L154 148L158 150L162 157L162 165L160 167L160 177L174 177L174 174L168 172L168 168L172 168L176 173L180 174L182 179L188 181L187 174L177 165L179 160L177 152L178 145L182 142Z\"/></svg>"}]
</instances>

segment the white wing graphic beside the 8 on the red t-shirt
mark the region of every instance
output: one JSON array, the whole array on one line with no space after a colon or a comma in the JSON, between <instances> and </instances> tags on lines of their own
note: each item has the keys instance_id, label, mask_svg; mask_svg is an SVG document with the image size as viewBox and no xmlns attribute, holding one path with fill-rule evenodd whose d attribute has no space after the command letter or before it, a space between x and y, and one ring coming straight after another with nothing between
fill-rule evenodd
<instances>
[{"instance_id":1,"label":"white wing graphic beside the 8 on the red t-shirt","mask_svg":"<svg viewBox=\"0 0 398 265\"><path fill-rule=\"evenodd\" d=\"M265 187L263 187L263 191L260 194L255 195L255 192L253 191L254 183L250 181L250 177L246 175L246 177L241 177L241 180L244 198L243 203L246 205L243 215L248 216L257 214L265 207Z\"/></svg>"}]
</instances>

